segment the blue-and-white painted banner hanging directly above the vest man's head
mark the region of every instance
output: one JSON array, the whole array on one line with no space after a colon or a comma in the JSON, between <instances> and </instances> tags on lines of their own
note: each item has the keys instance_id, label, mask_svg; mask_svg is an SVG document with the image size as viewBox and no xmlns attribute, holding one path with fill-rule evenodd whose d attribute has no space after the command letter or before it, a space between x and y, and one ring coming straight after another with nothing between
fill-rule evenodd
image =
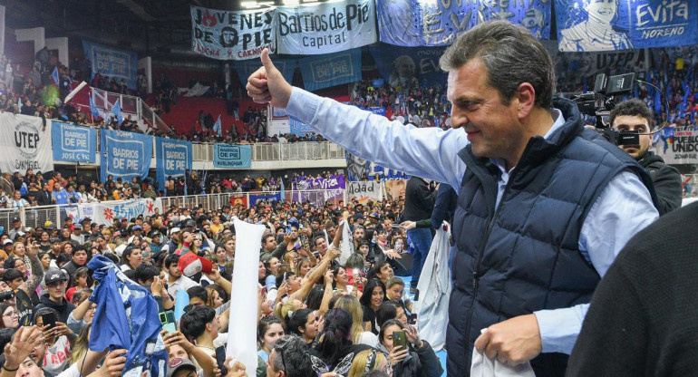
<instances>
[{"instance_id":1,"label":"blue-and-white painted banner hanging directly above the vest man's head","mask_svg":"<svg viewBox=\"0 0 698 377\"><path fill-rule=\"evenodd\" d=\"M523 25L538 39L548 39L551 4L548 0L378 1L378 30L385 43L445 46L477 24L503 19Z\"/></svg>"}]
</instances>

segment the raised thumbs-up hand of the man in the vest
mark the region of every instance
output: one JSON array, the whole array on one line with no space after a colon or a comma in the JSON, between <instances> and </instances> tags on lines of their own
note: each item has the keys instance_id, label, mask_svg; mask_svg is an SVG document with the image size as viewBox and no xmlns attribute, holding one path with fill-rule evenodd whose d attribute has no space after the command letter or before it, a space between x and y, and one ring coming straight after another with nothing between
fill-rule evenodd
<instances>
[{"instance_id":1,"label":"raised thumbs-up hand of the man in the vest","mask_svg":"<svg viewBox=\"0 0 698 377\"><path fill-rule=\"evenodd\" d=\"M247 95L257 103L269 103L279 108L286 108L291 97L291 84L271 62L269 49L264 49L261 56L263 66L247 79Z\"/></svg>"}]
</instances>

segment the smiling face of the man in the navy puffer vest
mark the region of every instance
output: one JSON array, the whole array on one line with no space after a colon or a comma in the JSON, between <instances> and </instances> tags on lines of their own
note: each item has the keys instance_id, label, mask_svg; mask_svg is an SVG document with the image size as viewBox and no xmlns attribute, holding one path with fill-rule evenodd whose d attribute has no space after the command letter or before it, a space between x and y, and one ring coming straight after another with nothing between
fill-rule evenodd
<instances>
[{"instance_id":1,"label":"smiling face of the man in the navy puffer vest","mask_svg":"<svg viewBox=\"0 0 698 377\"><path fill-rule=\"evenodd\" d=\"M516 93L509 104L488 83L488 73L480 59L472 59L449 72L448 98L453 104L454 129L463 128L478 157L518 162L531 135L520 124L520 102Z\"/></svg>"}]
</instances>

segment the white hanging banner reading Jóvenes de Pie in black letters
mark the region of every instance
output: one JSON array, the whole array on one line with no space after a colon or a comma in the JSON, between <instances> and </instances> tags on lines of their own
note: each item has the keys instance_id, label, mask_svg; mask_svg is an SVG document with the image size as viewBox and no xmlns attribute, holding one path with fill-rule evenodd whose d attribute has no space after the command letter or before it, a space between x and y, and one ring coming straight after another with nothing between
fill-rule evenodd
<instances>
[{"instance_id":1,"label":"white hanging banner reading J\u00f3venes de Pie in black letters","mask_svg":"<svg viewBox=\"0 0 698 377\"><path fill-rule=\"evenodd\" d=\"M220 11L191 7L191 50L218 60L258 58L274 52L274 9Z\"/></svg>"}]
</instances>

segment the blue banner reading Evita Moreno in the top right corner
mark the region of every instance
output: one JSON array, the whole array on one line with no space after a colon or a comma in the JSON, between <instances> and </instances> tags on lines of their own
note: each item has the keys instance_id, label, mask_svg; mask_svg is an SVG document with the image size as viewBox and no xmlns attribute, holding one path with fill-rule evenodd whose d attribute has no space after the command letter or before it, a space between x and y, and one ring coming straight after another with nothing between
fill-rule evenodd
<instances>
[{"instance_id":1,"label":"blue banner reading Evita Moreno in the top right corner","mask_svg":"<svg viewBox=\"0 0 698 377\"><path fill-rule=\"evenodd\" d=\"M695 0L559 0L555 5L560 51L629 50L698 43Z\"/></svg>"}]
</instances>

